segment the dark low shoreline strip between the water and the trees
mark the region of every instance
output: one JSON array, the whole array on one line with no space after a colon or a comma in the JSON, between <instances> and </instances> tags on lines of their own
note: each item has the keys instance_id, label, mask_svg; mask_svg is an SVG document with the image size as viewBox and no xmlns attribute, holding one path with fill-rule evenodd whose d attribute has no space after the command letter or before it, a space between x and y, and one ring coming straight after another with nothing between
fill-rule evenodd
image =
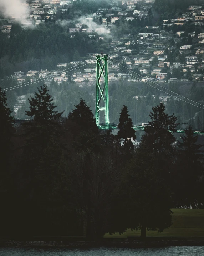
<instances>
[{"instance_id":1,"label":"dark low shoreline strip between the water and the trees","mask_svg":"<svg viewBox=\"0 0 204 256\"><path fill-rule=\"evenodd\" d=\"M112 241L56 241L56 240L7 240L1 241L0 247L42 247L42 248L98 248L98 247L114 247L114 248L142 248L142 247L166 247L166 246L204 246L204 240L198 238L198 240L128 240L127 238L123 241L112 240Z\"/></svg>"}]
</instances>

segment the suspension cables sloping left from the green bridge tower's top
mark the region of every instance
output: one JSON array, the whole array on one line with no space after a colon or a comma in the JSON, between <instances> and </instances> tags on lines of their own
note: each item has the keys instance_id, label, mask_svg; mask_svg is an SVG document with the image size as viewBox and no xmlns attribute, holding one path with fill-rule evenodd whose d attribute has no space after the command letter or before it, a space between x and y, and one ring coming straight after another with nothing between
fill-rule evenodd
<instances>
[{"instance_id":1,"label":"suspension cables sloping left from the green bridge tower's top","mask_svg":"<svg viewBox=\"0 0 204 256\"><path fill-rule=\"evenodd\" d=\"M93 61L93 59L94 59L94 61ZM83 63L86 63L86 64L84 64L84 65L82 65L83 63L80 63L80 64L76 65L76 66L82 65L82 66L80 66L80 67L73 66L73 67L75 67L75 68L70 67L70 68L73 68L73 69L71 69L71 70L68 70L68 69L70 69L70 68L67 68L67 69L64 69L64 70L62 70L62 71L57 72L57 74L55 74L55 75L49 75L49 76L46 76L46 77L44 77L44 78L39 78L39 79L36 79L36 80L34 80L34 81L27 82L27 83L23 83L23 84L16 85L16 86L13 86L13 87L9 87L9 88L3 89L3 90L4 90L4 91L10 91L10 90L18 89L18 88L21 88L21 87L24 87L24 86L27 86L27 85L30 85L30 84L34 84L34 83L39 83L39 82L45 81L45 80L47 80L47 79L49 79L49 78L53 78L53 77L59 76L61 73L65 72L65 71L66 71L66 72L70 72L70 71L73 71L73 70L75 70L75 69L77 69L77 68L81 68L81 67L84 67L84 66L86 66L86 65L88 65L88 64L92 64L92 63L95 62L95 58L93 58L93 59L88 60L88 61L92 61L91 63L87 63L87 61L85 61L85 62L83 62ZM14 88L14 87L15 87L15 88Z\"/></svg>"}]
</instances>

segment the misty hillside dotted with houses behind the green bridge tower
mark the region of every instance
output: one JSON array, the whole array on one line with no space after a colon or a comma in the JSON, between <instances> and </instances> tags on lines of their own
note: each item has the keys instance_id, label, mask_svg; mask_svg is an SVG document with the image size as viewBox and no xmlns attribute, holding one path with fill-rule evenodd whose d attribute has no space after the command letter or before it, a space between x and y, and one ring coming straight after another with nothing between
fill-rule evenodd
<instances>
[{"instance_id":1,"label":"misty hillside dotted with houses behind the green bridge tower","mask_svg":"<svg viewBox=\"0 0 204 256\"><path fill-rule=\"evenodd\" d=\"M166 88L188 84L185 93L189 93L189 84L201 85L204 79L204 3L197 1L183 10L169 6L161 14L158 6L162 1L28 1L28 17L20 22L15 17L0 19L1 83L6 88L6 81L24 84L46 78L45 84L54 87L56 101L60 101L57 86L72 91L89 87L87 97L92 105L95 56L103 53L110 58L110 87L137 84L139 89L131 92L133 100L146 97L141 88L147 81ZM82 67L83 63L88 65ZM29 92L32 90L23 87L19 93L25 97L16 95L20 98L14 105L15 115ZM157 94L168 103L170 97L161 92L152 92L152 101ZM66 106L66 112L73 104ZM195 120L194 115L192 118ZM148 115L144 121L147 119Z\"/></svg>"}]
</instances>

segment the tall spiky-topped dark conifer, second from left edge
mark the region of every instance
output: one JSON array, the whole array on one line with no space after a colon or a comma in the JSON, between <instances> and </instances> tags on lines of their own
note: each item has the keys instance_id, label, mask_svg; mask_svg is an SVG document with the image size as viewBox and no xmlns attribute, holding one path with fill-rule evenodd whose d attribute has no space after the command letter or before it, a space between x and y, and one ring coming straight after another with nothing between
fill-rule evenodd
<instances>
[{"instance_id":1,"label":"tall spiky-topped dark conifer, second from left edge","mask_svg":"<svg viewBox=\"0 0 204 256\"><path fill-rule=\"evenodd\" d=\"M54 165L53 162L55 162L55 166L57 166L56 162L60 161L58 157L52 159L52 164L46 169L44 168L45 160L51 159L51 155L47 154L51 150L47 148L56 141L60 134L59 119L62 115L55 111L56 106L52 103L53 98L48 91L45 85L41 86L38 92L35 92L35 97L31 97L29 100L30 110L26 111L30 120L24 123L25 145L20 159L21 172L17 179L16 196L21 198L19 203L22 203L22 214L19 218L22 218L22 223L29 221L32 216L35 216L35 221L33 219L33 222L30 222L29 230L26 230L28 227L23 225L22 232L34 233L37 232L37 229L44 230L36 209L45 213L47 203L45 198L47 201L51 198L46 191L52 191L52 189L48 189L52 184L53 177L51 165ZM46 216L44 217L46 218Z\"/></svg>"}]
</instances>

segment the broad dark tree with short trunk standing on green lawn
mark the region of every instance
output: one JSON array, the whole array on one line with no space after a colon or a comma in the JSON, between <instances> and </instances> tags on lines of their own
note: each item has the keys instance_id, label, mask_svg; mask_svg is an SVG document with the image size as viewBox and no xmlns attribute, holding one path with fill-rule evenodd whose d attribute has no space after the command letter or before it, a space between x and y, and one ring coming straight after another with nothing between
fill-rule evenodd
<instances>
[{"instance_id":1,"label":"broad dark tree with short trunk standing on green lawn","mask_svg":"<svg viewBox=\"0 0 204 256\"><path fill-rule=\"evenodd\" d=\"M123 170L109 232L140 229L145 239L146 229L162 232L171 226L173 204L161 169L144 144L136 149Z\"/></svg>"}]
</instances>

